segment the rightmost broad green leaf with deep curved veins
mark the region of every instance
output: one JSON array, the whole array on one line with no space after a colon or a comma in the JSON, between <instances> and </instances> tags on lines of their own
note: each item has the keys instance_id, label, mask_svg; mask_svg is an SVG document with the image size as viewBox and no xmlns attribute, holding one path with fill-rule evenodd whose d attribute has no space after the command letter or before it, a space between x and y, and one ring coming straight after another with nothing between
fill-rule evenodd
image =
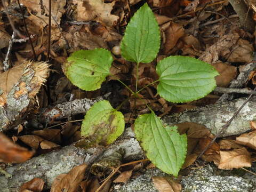
<instances>
[{"instance_id":1,"label":"rightmost broad green leaf with deep curved veins","mask_svg":"<svg viewBox=\"0 0 256 192\"><path fill-rule=\"evenodd\" d=\"M184 56L170 56L156 66L159 75L157 92L171 102L203 98L216 86L218 72L208 63Z\"/></svg>"}]
</instances>

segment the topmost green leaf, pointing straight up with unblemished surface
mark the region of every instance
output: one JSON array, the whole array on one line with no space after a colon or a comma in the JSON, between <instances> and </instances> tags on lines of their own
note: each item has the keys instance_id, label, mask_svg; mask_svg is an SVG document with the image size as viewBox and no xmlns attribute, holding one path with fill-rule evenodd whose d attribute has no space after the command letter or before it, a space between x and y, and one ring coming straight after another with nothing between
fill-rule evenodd
<instances>
[{"instance_id":1,"label":"topmost green leaf, pointing straight up with unblemished surface","mask_svg":"<svg viewBox=\"0 0 256 192\"><path fill-rule=\"evenodd\" d=\"M133 15L121 42L122 56L132 62L149 63L160 47L158 23L147 3Z\"/></svg>"}]
</instances>

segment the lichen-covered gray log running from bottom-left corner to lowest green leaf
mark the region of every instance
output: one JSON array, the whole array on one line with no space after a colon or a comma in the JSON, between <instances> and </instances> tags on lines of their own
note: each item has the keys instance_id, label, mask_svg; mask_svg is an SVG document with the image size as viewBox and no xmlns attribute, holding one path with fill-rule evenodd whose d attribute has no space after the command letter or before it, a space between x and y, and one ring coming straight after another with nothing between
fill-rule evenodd
<instances>
[{"instance_id":1,"label":"lichen-covered gray log running from bottom-left corner to lowest green leaf","mask_svg":"<svg viewBox=\"0 0 256 192\"><path fill-rule=\"evenodd\" d=\"M67 173L74 166L83 163L90 165L95 159L109 156L120 149L124 150L124 162L142 159L145 156L140 148L139 142L133 137L128 136L129 134L133 134L131 132L131 129L128 129L124 134L124 137L113 143L107 150L101 146L86 150L68 146L59 151L53 151L48 154L31 158L25 163L7 167L5 171L13 176L11 179L8 179L0 175L1 191L19 191L18 189L23 183L35 177L43 179L46 182L45 187L49 189L51 188L54 178L59 174ZM106 151L103 153L104 150Z\"/></svg>"}]
</instances>

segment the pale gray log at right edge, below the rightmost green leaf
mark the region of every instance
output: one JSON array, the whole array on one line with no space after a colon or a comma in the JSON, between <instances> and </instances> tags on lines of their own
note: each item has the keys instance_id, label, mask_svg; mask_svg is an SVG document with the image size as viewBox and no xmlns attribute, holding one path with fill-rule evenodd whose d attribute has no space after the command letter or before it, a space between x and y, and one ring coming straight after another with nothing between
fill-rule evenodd
<instances>
[{"instance_id":1,"label":"pale gray log at right edge, below the rightmost green leaf","mask_svg":"<svg viewBox=\"0 0 256 192\"><path fill-rule=\"evenodd\" d=\"M246 98L239 98L234 101L228 101L209 105L206 107L198 107L185 113L165 116L164 122L168 124L194 122L205 125L213 134L217 134L223 125L234 115L234 113L242 106ZM256 119L256 97L252 97L244 106L240 113L235 117L230 126L220 135L227 137L229 135L241 134L250 130L250 121Z\"/></svg>"}]
</instances>

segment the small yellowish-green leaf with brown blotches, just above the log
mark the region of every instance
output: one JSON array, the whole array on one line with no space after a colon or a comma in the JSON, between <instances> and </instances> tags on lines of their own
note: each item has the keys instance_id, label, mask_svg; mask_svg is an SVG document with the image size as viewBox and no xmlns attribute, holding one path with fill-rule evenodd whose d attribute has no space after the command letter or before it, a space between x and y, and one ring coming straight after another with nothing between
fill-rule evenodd
<instances>
[{"instance_id":1,"label":"small yellowish-green leaf with brown blotches, just above the log","mask_svg":"<svg viewBox=\"0 0 256 192\"><path fill-rule=\"evenodd\" d=\"M87 111L81 127L83 137L107 146L124 131L124 116L114 109L107 100L95 103Z\"/></svg>"}]
</instances>

